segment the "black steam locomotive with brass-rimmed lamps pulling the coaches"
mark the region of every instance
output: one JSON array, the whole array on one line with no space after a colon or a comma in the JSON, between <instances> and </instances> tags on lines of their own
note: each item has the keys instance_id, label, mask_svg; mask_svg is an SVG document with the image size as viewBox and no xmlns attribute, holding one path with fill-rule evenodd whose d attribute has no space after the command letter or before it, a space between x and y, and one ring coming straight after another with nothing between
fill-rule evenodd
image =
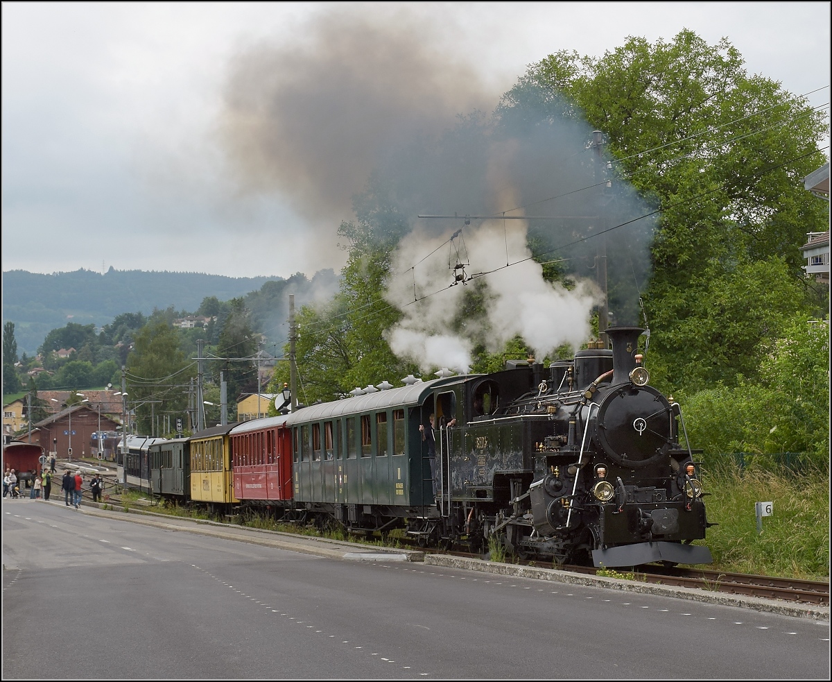
<instances>
[{"instance_id":1,"label":"black steam locomotive with brass-rimmed lamps pulling the coaches","mask_svg":"<svg viewBox=\"0 0 832 682\"><path fill-rule=\"evenodd\" d=\"M473 523L558 563L711 562L691 545L708 523L679 406L647 385L641 332L611 328L612 351L579 351L548 373L525 363L466 382L464 446L444 434L446 532Z\"/></svg>"}]
</instances>

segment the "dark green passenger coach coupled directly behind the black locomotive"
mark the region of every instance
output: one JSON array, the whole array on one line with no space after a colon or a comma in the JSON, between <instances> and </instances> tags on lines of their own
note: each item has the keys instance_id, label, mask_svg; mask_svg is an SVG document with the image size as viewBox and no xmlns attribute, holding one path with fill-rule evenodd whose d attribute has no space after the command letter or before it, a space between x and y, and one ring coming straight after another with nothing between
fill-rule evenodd
<instances>
[{"instance_id":1,"label":"dark green passenger coach coupled directly behind the black locomotive","mask_svg":"<svg viewBox=\"0 0 832 682\"><path fill-rule=\"evenodd\" d=\"M456 418L457 391L460 377L417 380L287 416L296 508L334 515L355 530L384 530L404 518L431 515L428 508L435 514L431 462L419 425L429 428L431 414L437 426L440 419ZM436 401L438 392L444 397Z\"/></svg>"}]
</instances>

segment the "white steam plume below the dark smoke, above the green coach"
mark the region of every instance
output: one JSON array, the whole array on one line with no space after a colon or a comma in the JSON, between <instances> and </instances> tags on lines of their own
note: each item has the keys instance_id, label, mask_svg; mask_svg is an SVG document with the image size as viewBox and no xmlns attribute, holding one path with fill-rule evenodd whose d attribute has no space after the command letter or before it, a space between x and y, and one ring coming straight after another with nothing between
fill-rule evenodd
<instances>
[{"instance_id":1,"label":"white steam plume below the dark smoke, above the green coach","mask_svg":"<svg viewBox=\"0 0 832 682\"><path fill-rule=\"evenodd\" d=\"M453 268L457 262L458 240L450 249L446 246L418 262L442 243L442 237L414 231L404 238L388 292L388 300L404 312L388 338L394 353L418 362L424 371L436 366L465 371L476 341L489 351L498 351L519 334L545 355L564 343L577 347L587 339L596 287L590 281L579 281L570 291L545 281L542 267L525 260L531 256L526 223L511 223L503 227L502 221L488 221L465 228L467 254L460 249L459 258L464 262L467 255L470 260L467 275L489 272L483 275L488 301L479 319L462 321L460 306L466 287L451 286L453 270L448 265ZM507 261L513 265L506 267Z\"/></svg>"}]
</instances>

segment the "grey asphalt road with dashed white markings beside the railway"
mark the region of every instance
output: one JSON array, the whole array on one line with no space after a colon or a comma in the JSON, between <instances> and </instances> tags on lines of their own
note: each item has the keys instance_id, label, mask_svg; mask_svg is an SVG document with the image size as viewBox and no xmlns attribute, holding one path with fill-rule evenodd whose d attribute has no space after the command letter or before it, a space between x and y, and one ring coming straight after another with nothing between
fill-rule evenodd
<instances>
[{"instance_id":1,"label":"grey asphalt road with dashed white markings beside the railway","mask_svg":"<svg viewBox=\"0 0 832 682\"><path fill-rule=\"evenodd\" d=\"M828 680L829 623L2 503L11 679Z\"/></svg>"}]
</instances>

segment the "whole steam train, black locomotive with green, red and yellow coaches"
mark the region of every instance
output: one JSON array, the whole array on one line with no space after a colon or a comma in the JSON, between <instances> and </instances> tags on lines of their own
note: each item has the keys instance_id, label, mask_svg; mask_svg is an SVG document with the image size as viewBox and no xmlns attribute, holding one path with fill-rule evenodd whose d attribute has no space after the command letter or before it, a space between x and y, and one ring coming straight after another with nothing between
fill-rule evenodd
<instances>
[{"instance_id":1,"label":"whole steam train, black locomotive with green, red and yellow coaches","mask_svg":"<svg viewBox=\"0 0 832 682\"><path fill-rule=\"evenodd\" d=\"M605 567L710 563L692 544L708 526L694 452L679 443L679 406L647 383L641 332L610 328L612 351L547 369L410 376L157 443L146 485L353 532L404 528L425 546L500 543ZM435 447L423 438L432 421Z\"/></svg>"}]
</instances>

